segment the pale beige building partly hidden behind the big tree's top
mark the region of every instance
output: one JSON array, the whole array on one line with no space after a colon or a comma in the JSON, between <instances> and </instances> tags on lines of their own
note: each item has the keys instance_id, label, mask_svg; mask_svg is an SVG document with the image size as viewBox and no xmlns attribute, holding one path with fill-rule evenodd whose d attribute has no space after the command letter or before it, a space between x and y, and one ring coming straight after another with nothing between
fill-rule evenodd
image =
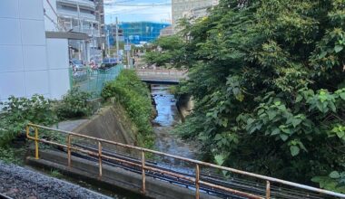
<instances>
[{"instance_id":1,"label":"pale beige building partly hidden behind the big tree's top","mask_svg":"<svg viewBox=\"0 0 345 199\"><path fill-rule=\"evenodd\" d=\"M199 18L207 15L207 9L218 5L219 0L172 0L173 30L183 17Z\"/></svg>"}]
</instances>

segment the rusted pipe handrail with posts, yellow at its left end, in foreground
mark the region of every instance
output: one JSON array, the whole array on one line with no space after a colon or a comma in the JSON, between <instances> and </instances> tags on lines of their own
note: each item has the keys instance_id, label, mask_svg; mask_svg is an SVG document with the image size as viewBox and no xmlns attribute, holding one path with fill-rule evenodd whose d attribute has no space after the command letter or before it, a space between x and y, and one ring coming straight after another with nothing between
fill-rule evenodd
<instances>
[{"instance_id":1,"label":"rusted pipe handrail with posts, yellow at its left end, in foreground","mask_svg":"<svg viewBox=\"0 0 345 199\"><path fill-rule=\"evenodd\" d=\"M56 141L51 141L51 140L46 140L44 138L40 138L39 137L39 129L44 131L44 130L52 130L55 133L62 133L65 135L65 142L62 143L58 143ZM34 131L34 136L31 136L32 131ZM180 178L180 179L184 179L186 181L190 181L195 185L195 198L199 198L200 197L200 186L204 185L204 186L209 186L212 187L212 189L219 189L225 192L229 192L238 196L242 196L245 198L271 198L271 184L278 184L278 185L288 185L291 187L295 187L295 188L299 188L302 190L308 190L314 193L319 193L319 194L325 194L326 196L333 196L333 197L340 197L340 198L345 198L345 194L340 194L340 193L335 193L335 192L331 192L328 190L324 190L324 189L320 189L320 188L315 188L312 186L308 186L308 185L301 185L301 184L297 184L297 183L292 183L289 181L285 181L285 180L281 180L278 178L273 178L270 176L265 176L265 175L257 175L257 174L253 174L250 172L245 172L242 170L238 170L238 169L234 169L231 167L226 167L226 166L218 166L218 165L213 165L211 163L206 163L206 162L202 162L199 160L194 160L194 159L190 159L190 158L185 158L182 156L174 156L171 154L166 154L163 152L159 152L159 151L155 151L152 149L147 149L147 148L143 148L143 147L134 147L131 145L126 145L123 143L119 143L119 142L114 142L114 141L109 141L109 140L105 140L102 138L97 138L97 137L89 137L89 136L85 136L83 134L78 134L78 133L74 133L71 131L65 131L65 130L60 130L60 129L55 129L55 128L47 128L44 126L40 126L40 125L35 125L35 124L28 124L26 126L26 137L28 139L32 139L34 140L34 148L35 148L35 153L34 156L36 159L39 159L39 143L45 143L48 145L54 145L57 147L63 147L67 150L67 166L71 166L71 152L73 151L78 151L78 152L82 152L84 154L87 154L89 156L97 156L98 157L98 166L99 166L99 177L102 177L102 170L103 170L103 159L111 159L120 163L124 163L130 166L137 166L140 167L142 169L142 193L145 194L146 192L146 188L145 188L145 172L146 171L152 171L152 172L158 172L158 173L162 173L164 175L171 175L174 176L176 178ZM98 152L94 152L93 150L90 150L88 148L83 148L83 147L76 147L72 144L72 139L76 138L76 137L80 137L80 138L84 138L84 139L90 139L92 141L95 141L96 143L98 143ZM131 161L127 161L125 159L121 159L118 157L114 157L114 156L107 156L104 155L103 152L103 145L104 144L111 144L113 146L116 147L125 147L125 148L131 148L134 149L136 151L139 151L141 153L141 163L135 163L135 162L131 162ZM174 171L167 171L166 169L162 169L162 168L157 168L157 167L153 167L150 166L150 164L147 164L147 161L145 160L145 156L147 155L147 153L151 153L151 154L155 154L155 155L159 155L159 156L165 156L165 157L172 157L174 159L179 159L182 160L184 162L193 164L195 166L195 174L193 176L190 175L181 175L178 172L174 172ZM217 184L216 181L213 182L206 182L205 180L201 179L201 171L200 171L200 166L206 166L206 167L211 167L211 168L216 168L216 169L221 169L222 171L228 171L228 172L232 172L234 174L239 174L239 175L247 175L250 177L254 177L256 179L260 179L266 182L266 187L265 187L265 194L261 195L261 194L251 194L248 192L243 192L241 190L236 190L234 188L228 187L228 186L224 186L222 184ZM309 194L308 194L309 195ZM275 197L272 197L275 198ZM289 197L290 198L290 197ZM302 197L304 198L304 197ZM306 197L307 198L307 197ZM309 197L308 197L309 198Z\"/></svg>"}]
</instances>

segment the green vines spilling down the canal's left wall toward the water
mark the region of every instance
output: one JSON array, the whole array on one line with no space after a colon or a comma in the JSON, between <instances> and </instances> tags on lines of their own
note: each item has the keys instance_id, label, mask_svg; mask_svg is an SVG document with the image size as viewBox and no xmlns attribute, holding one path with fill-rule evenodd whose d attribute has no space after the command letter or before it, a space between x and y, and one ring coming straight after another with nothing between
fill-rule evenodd
<instances>
[{"instance_id":1,"label":"green vines spilling down the canal's left wall toward the water","mask_svg":"<svg viewBox=\"0 0 345 199\"><path fill-rule=\"evenodd\" d=\"M151 117L153 107L150 90L139 80L135 71L123 70L116 81L110 81L102 90L104 100L115 97L127 111L139 130L137 141L141 147L153 147L153 128Z\"/></svg>"}]
</instances>

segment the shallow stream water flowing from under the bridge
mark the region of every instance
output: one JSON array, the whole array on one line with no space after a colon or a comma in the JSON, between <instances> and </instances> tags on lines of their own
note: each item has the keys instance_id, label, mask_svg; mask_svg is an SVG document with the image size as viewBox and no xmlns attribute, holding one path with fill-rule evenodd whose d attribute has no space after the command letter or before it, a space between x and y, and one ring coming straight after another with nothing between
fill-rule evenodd
<instances>
[{"instance_id":1,"label":"shallow stream water flowing from under the bridge","mask_svg":"<svg viewBox=\"0 0 345 199\"><path fill-rule=\"evenodd\" d=\"M158 114L153 120L156 150L195 159L198 147L192 141L182 140L178 135L172 133L174 126L181 122L181 116L176 107L176 99L169 90L169 85L153 84L151 93Z\"/></svg>"}]
</instances>

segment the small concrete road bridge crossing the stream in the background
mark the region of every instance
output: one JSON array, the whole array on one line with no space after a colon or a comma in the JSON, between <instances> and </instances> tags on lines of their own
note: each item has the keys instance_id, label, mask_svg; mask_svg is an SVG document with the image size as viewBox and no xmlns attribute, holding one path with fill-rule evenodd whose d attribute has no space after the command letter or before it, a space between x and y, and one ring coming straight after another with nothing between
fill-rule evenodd
<instances>
[{"instance_id":1,"label":"small concrete road bridge crossing the stream in the background","mask_svg":"<svg viewBox=\"0 0 345 199\"><path fill-rule=\"evenodd\" d=\"M176 69L135 69L139 78L148 83L178 84L188 71Z\"/></svg>"}]
</instances>

